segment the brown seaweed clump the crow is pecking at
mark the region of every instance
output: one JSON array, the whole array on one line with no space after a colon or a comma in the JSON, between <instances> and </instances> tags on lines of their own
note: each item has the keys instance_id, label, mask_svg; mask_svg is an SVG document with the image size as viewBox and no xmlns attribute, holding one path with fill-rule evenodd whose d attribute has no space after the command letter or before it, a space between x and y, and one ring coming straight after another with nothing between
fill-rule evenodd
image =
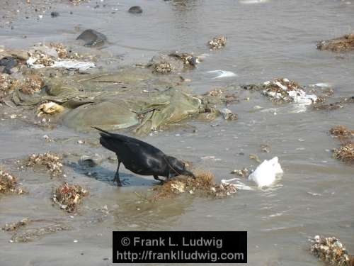
<instances>
[{"instance_id":1,"label":"brown seaweed clump the crow is pecking at","mask_svg":"<svg viewBox=\"0 0 354 266\"><path fill-rule=\"evenodd\" d=\"M216 198L229 196L236 192L232 184L216 184L211 172L198 172L196 178L179 176L154 188L153 200L166 199L182 193L212 196Z\"/></svg>"}]
</instances>

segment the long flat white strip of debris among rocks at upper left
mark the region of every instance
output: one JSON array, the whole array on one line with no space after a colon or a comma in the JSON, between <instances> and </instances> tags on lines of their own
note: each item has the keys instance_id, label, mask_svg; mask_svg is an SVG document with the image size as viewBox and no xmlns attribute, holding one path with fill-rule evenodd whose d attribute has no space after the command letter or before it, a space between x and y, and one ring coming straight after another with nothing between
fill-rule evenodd
<instances>
[{"instance_id":1,"label":"long flat white strip of debris among rocks at upper left","mask_svg":"<svg viewBox=\"0 0 354 266\"><path fill-rule=\"evenodd\" d=\"M30 57L27 60L28 67L35 69L44 68L45 65L35 64L38 58ZM89 68L96 67L93 62L77 61L77 60L57 60L48 67L66 68L67 70L88 70Z\"/></svg>"}]
</instances>

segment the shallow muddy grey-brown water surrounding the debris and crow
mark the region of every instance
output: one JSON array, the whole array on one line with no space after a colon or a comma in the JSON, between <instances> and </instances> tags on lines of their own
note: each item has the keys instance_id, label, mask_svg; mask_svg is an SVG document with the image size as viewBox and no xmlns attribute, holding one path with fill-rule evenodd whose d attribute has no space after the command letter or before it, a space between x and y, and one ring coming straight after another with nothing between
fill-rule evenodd
<instances>
[{"instance_id":1,"label":"shallow muddy grey-brown water surrounding the debris and crow","mask_svg":"<svg viewBox=\"0 0 354 266\"><path fill-rule=\"evenodd\" d=\"M144 9L141 15L126 12L135 4ZM13 30L0 29L0 43L12 48L26 48L38 41L70 44L80 32L77 27L95 28L110 41L103 50L121 58L108 69L147 62L157 51L206 54L198 69L183 73L193 80L189 86L196 93L230 83L287 77L304 85L329 82L335 97L353 95L354 53L320 52L315 48L316 40L353 31L354 6L346 1L118 4L105 0L98 5L94 9L96 2L76 7L57 4L54 7L60 16L50 18L45 13L41 20L36 16L26 19L20 12L14 15ZM23 39L23 35L27 38ZM227 47L210 52L205 43L215 35L226 35ZM237 76L212 79L207 74L210 70L228 70ZM336 235L353 253L354 167L331 158L329 150L337 143L327 132L337 124L354 128L354 106L331 112L293 113L293 106L275 106L256 92L238 94L240 103L230 106L239 114L238 121L188 121L182 129L144 139L166 153L211 170L217 179L232 177L229 172L234 169L255 167L250 154L261 160L278 156L285 172L278 184L265 190L239 192L227 199L182 196L144 204L135 192L146 192L154 184L152 179L137 177L122 167L125 187L117 188L111 182L115 162L105 161L91 175L67 166L67 179L90 191L74 218L51 206L50 189L58 180L37 172L19 172L13 162L46 150L110 155L95 144L98 134L76 133L62 126L42 131L18 120L0 121L2 162L30 191L26 196L0 199L0 223L30 216L68 223L73 228L25 244L8 243L11 234L1 233L1 265L109 265L114 230L248 231L249 265L321 265L307 252L307 238L316 234ZM247 97L250 100L244 101ZM255 110L254 106L262 108ZM197 131L193 133L193 129ZM56 141L45 143L45 134ZM83 138L93 141L78 144L77 140ZM262 144L270 146L270 153L261 152ZM216 160L202 160L204 156L215 156ZM74 157L68 160L74 161ZM104 211L105 205L108 212ZM35 223L30 226L36 227Z\"/></svg>"}]
</instances>

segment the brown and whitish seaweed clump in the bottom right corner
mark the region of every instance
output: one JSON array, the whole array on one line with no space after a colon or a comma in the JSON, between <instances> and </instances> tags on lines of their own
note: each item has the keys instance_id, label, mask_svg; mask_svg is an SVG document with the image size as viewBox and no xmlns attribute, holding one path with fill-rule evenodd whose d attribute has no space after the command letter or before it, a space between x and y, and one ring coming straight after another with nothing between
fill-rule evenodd
<instances>
[{"instance_id":1,"label":"brown and whitish seaweed clump in the bottom right corner","mask_svg":"<svg viewBox=\"0 0 354 266\"><path fill-rule=\"evenodd\" d=\"M354 266L354 256L348 254L346 247L337 238L321 238L316 235L312 239L310 251L330 265Z\"/></svg>"}]
</instances>

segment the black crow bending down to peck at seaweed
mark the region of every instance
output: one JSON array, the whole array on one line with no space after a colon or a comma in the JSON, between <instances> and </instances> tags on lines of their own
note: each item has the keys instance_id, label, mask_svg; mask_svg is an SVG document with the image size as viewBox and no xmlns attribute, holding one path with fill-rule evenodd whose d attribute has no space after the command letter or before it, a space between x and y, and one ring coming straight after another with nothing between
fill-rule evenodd
<instances>
[{"instance_id":1,"label":"black crow bending down to peck at seaweed","mask_svg":"<svg viewBox=\"0 0 354 266\"><path fill-rule=\"evenodd\" d=\"M101 145L113 151L118 157L118 167L113 182L116 181L120 187L122 186L119 178L121 162L125 168L135 174L152 175L159 181L163 181L159 179L159 176L167 179L181 174L195 177L192 172L185 169L185 164L181 160L164 154L158 148L142 140L103 131L101 128L96 129L101 131Z\"/></svg>"}]
</instances>

